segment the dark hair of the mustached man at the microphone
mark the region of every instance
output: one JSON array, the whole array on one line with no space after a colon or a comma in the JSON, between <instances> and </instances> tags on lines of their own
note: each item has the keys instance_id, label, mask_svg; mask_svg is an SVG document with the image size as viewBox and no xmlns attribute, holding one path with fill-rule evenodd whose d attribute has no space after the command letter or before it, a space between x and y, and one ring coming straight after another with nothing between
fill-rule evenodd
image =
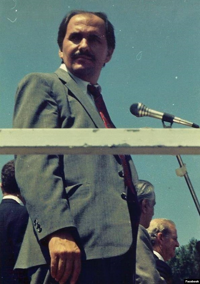
<instances>
[{"instance_id":1,"label":"dark hair of the mustached man at the microphone","mask_svg":"<svg viewBox=\"0 0 200 284\"><path fill-rule=\"evenodd\" d=\"M114 27L113 25L110 23L110 21L107 18L107 15L105 13L102 12L89 12L89 11L83 11L83 10L72 10L70 13L68 13L64 19L62 20L59 30L58 30L58 45L60 47L60 50L62 51L62 43L63 40L65 38L66 35L66 31L67 31L67 25L70 21L70 19L78 14L93 14L98 16L99 18L103 19L105 22L105 26L106 26L106 40L107 40L107 45L108 48L115 48L115 36L114 36Z\"/></svg>"}]
</instances>

